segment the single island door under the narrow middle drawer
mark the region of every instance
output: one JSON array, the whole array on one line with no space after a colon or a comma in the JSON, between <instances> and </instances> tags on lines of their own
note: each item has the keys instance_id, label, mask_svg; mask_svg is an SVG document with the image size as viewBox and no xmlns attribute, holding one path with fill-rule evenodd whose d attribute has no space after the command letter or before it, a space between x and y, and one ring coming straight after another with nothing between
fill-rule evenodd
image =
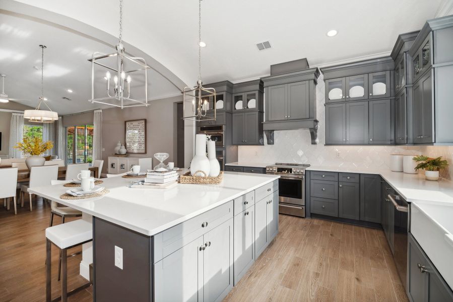
<instances>
[{"instance_id":1,"label":"single island door under the narrow middle drawer","mask_svg":"<svg viewBox=\"0 0 453 302\"><path fill-rule=\"evenodd\" d=\"M254 215L254 207L251 206L234 216L234 285L245 275L255 260Z\"/></svg>"}]
</instances>

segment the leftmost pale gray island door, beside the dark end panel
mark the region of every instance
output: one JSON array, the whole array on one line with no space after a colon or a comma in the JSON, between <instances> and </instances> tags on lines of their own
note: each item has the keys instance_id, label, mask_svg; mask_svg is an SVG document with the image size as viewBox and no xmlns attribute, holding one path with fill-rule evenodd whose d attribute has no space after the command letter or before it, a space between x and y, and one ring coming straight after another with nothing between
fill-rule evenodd
<instances>
[{"instance_id":1,"label":"leftmost pale gray island door, beside the dark end panel","mask_svg":"<svg viewBox=\"0 0 453 302\"><path fill-rule=\"evenodd\" d=\"M154 264L154 301L203 301L203 236Z\"/></svg>"}]
</instances>

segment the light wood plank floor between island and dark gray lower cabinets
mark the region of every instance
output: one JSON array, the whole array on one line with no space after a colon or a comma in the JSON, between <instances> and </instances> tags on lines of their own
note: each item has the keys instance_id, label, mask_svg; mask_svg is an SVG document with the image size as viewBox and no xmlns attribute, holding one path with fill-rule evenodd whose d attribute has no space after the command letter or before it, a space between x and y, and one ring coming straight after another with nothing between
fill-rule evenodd
<instances>
[{"instance_id":1,"label":"light wood plank floor between island and dark gray lower cabinets","mask_svg":"<svg viewBox=\"0 0 453 302\"><path fill-rule=\"evenodd\" d=\"M280 215L232 301L408 301L381 230Z\"/></svg>"}]
</instances>

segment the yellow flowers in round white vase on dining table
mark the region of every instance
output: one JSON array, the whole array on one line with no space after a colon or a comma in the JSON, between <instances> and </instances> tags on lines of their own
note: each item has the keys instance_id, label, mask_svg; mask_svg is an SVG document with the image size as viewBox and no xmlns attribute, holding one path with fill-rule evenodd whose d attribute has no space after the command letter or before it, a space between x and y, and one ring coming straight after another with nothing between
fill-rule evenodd
<instances>
[{"instance_id":1,"label":"yellow flowers in round white vase on dining table","mask_svg":"<svg viewBox=\"0 0 453 302\"><path fill-rule=\"evenodd\" d=\"M30 156L25 159L28 170L33 166L43 166L45 159L41 156L47 150L53 148L53 143L48 140L43 142L41 137L24 137L22 142L18 142L15 148Z\"/></svg>"}]
</instances>

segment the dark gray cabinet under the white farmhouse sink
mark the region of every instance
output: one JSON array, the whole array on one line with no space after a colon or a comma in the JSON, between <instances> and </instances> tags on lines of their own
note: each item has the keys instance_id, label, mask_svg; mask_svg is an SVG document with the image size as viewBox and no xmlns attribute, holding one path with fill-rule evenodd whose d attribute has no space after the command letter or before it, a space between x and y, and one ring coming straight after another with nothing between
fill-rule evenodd
<instances>
[{"instance_id":1,"label":"dark gray cabinet under the white farmhouse sink","mask_svg":"<svg viewBox=\"0 0 453 302\"><path fill-rule=\"evenodd\" d=\"M453 292L412 234L408 234L408 295L412 302L453 301Z\"/></svg>"}]
</instances>

